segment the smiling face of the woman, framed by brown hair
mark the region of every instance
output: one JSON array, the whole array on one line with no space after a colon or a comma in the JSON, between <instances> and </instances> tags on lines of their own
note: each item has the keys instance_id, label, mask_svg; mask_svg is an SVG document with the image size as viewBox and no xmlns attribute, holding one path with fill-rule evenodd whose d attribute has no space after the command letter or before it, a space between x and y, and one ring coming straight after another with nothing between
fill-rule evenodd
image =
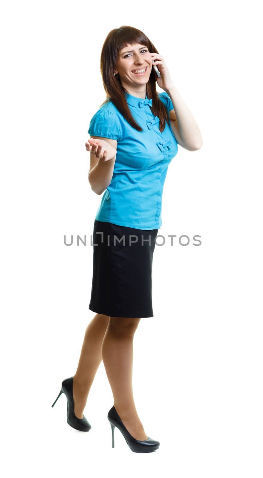
<instances>
[{"instance_id":1,"label":"smiling face of the woman, framed by brown hair","mask_svg":"<svg viewBox=\"0 0 263 478\"><path fill-rule=\"evenodd\" d=\"M123 87L142 85L146 88L152 67L152 55L148 51L147 46L141 43L136 43L135 45L128 44L119 52L119 59L114 73L119 73ZM134 70L142 70L144 68L146 68L144 73L134 73Z\"/></svg>"}]
</instances>

